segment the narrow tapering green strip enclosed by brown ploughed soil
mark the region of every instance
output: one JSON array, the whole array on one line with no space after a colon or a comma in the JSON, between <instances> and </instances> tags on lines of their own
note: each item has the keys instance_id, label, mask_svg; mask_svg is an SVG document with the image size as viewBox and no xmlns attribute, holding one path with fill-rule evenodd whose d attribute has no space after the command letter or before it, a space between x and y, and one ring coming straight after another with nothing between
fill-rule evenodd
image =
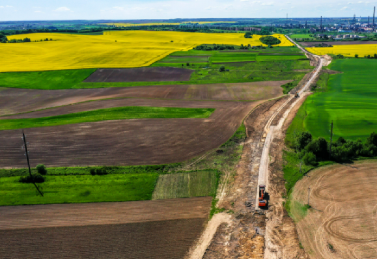
<instances>
[{"instance_id":1,"label":"narrow tapering green strip enclosed by brown ploughed soil","mask_svg":"<svg viewBox=\"0 0 377 259\"><path fill-rule=\"evenodd\" d=\"M215 109L173 107L115 107L64 115L0 120L0 130L48 127L93 121L145 119L145 118L208 118ZM6 117L3 117L6 118Z\"/></svg>"}]
</instances>

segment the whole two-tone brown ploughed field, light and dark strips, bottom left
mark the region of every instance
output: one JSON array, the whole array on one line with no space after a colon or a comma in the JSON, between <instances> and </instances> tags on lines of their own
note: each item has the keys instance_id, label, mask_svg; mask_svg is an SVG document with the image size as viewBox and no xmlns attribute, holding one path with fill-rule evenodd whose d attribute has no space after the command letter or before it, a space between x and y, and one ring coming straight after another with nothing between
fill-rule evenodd
<instances>
[{"instance_id":1,"label":"whole two-tone brown ploughed field, light and dark strips, bottom left","mask_svg":"<svg viewBox=\"0 0 377 259\"><path fill-rule=\"evenodd\" d=\"M0 208L0 257L184 258L212 198ZM124 224L128 223L128 224Z\"/></svg>"}]
</instances>

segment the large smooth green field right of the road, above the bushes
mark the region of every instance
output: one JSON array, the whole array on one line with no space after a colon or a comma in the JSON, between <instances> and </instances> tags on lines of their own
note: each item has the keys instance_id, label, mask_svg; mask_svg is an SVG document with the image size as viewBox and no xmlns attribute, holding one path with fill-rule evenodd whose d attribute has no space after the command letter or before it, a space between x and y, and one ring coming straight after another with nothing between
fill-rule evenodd
<instances>
[{"instance_id":1,"label":"large smooth green field right of the road, above the bushes","mask_svg":"<svg viewBox=\"0 0 377 259\"><path fill-rule=\"evenodd\" d=\"M335 139L342 136L365 141L377 126L377 86L374 76L377 60L334 60L329 68L343 73L329 76L327 92L308 97L287 134L294 130L308 130L314 138L322 136L329 139L333 121Z\"/></svg>"}]
</instances>

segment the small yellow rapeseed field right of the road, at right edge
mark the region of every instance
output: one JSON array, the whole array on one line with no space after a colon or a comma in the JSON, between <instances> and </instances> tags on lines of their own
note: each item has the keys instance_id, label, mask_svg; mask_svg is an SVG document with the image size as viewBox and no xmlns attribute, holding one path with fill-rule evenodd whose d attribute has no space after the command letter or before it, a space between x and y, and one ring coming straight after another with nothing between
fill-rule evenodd
<instances>
[{"instance_id":1,"label":"small yellow rapeseed field right of the road, at right edge","mask_svg":"<svg viewBox=\"0 0 377 259\"><path fill-rule=\"evenodd\" d=\"M346 57L354 57L355 54L358 54L359 57L364 57L377 54L377 45L333 45L330 48L307 48L307 50L316 55L342 54Z\"/></svg>"}]
</instances>

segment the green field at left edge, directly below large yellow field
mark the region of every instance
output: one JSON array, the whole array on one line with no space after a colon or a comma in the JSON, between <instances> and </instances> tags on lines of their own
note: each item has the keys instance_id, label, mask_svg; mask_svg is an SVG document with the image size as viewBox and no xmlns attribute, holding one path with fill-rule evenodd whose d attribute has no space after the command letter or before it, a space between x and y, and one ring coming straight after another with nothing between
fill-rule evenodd
<instances>
[{"instance_id":1,"label":"green field at left edge, directly below large yellow field","mask_svg":"<svg viewBox=\"0 0 377 259\"><path fill-rule=\"evenodd\" d=\"M0 87L28 89L69 89L81 83L96 69L0 73Z\"/></svg>"}]
</instances>

